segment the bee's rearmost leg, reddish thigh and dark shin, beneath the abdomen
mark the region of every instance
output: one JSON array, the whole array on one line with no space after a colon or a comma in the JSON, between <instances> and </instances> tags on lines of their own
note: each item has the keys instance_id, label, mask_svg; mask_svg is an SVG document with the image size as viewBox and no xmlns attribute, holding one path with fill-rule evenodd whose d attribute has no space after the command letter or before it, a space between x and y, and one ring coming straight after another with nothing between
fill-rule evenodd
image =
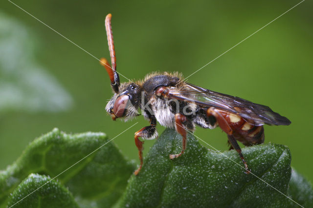
<instances>
[{"instance_id":1,"label":"bee's rearmost leg, reddish thigh and dark shin, beneath the abdomen","mask_svg":"<svg viewBox=\"0 0 313 208\"><path fill-rule=\"evenodd\" d=\"M246 169L246 173L248 174L250 172L247 164L246 164L246 160L243 156L243 154L241 153L241 148L238 145L236 139L234 138L233 134L233 130L230 128L230 126L228 125L227 121L225 120L225 118L223 117L223 115L214 107L210 107L209 109L207 109L206 111L207 116L214 116L220 126L220 128L226 132L226 134L228 135L228 141L231 144L231 146L236 149L236 151L238 152L241 160L244 163L245 169Z\"/></svg>"}]
</instances>

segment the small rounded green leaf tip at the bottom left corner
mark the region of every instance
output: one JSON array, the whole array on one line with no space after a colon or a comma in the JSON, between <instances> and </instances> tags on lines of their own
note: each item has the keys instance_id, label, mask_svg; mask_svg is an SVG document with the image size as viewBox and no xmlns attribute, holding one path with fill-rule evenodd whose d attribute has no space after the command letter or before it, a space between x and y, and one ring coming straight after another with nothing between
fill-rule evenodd
<instances>
[{"instance_id":1,"label":"small rounded green leaf tip at the bottom left corner","mask_svg":"<svg viewBox=\"0 0 313 208\"><path fill-rule=\"evenodd\" d=\"M9 198L8 207L15 208L78 208L72 194L49 176L30 174L13 191ZM49 182L50 181L50 182ZM45 186L43 186L46 183ZM28 197L30 190L36 190ZM24 198L25 197L25 198ZM24 199L23 199L24 198Z\"/></svg>"}]
</instances>

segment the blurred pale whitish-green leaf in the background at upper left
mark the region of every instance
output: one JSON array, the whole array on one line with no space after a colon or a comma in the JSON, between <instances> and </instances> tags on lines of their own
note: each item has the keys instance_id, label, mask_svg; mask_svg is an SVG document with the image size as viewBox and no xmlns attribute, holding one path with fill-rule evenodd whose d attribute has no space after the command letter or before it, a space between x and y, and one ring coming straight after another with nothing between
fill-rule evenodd
<instances>
[{"instance_id":1,"label":"blurred pale whitish-green leaf in the background at upper left","mask_svg":"<svg viewBox=\"0 0 313 208\"><path fill-rule=\"evenodd\" d=\"M36 34L0 11L0 114L6 111L58 112L73 99L39 64Z\"/></svg>"}]
</instances>

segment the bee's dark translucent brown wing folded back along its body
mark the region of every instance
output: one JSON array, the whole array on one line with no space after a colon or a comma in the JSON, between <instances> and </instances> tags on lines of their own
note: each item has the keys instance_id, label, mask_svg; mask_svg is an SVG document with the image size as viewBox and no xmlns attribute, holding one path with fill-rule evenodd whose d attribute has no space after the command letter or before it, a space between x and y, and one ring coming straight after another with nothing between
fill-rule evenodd
<instances>
[{"instance_id":1,"label":"bee's dark translucent brown wing folded back along its body","mask_svg":"<svg viewBox=\"0 0 313 208\"><path fill-rule=\"evenodd\" d=\"M190 83L186 83L183 89L170 88L169 97L238 114L252 125L291 124L289 119L272 111L268 106L254 104L242 98L214 92Z\"/></svg>"}]
</instances>

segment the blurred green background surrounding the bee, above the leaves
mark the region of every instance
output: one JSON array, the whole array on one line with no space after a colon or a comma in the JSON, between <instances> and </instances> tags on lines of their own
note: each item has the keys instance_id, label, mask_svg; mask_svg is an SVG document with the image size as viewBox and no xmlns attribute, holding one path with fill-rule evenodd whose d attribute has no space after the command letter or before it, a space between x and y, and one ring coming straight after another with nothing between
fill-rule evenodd
<instances>
[{"instance_id":1,"label":"blurred green background surrounding the bee, above the leaves","mask_svg":"<svg viewBox=\"0 0 313 208\"><path fill-rule=\"evenodd\" d=\"M112 13L118 71L141 79L157 70L186 77L300 1L13 2L96 58L110 57L104 19ZM266 143L289 146L291 165L311 181L312 6L304 1L188 78L288 117L290 126L265 126ZM0 27L0 169L53 127L102 131L113 138L136 121L114 143L138 161L134 132L148 123L142 117L111 120L104 110L112 96L110 82L95 58L9 1L1 3ZM228 149L219 128L197 128L195 134ZM153 143L146 141L145 153Z\"/></svg>"}]
</instances>

